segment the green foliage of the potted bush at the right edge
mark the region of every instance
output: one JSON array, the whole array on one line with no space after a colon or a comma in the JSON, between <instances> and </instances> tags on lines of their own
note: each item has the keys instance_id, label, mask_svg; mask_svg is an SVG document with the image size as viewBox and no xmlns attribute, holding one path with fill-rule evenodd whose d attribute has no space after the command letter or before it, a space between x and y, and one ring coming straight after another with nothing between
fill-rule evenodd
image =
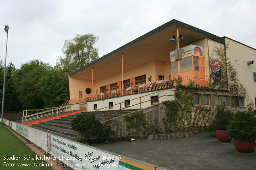
<instances>
[{"instance_id":1,"label":"green foliage of the potted bush at the right edge","mask_svg":"<svg viewBox=\"0 0 256 170\"><path fill-rule=\"evenodd\" d=\"M250 142L256 140L256 114L253 112L236 112L227 126L227 134L236 140Z\"/></svg>"}]
</instances>

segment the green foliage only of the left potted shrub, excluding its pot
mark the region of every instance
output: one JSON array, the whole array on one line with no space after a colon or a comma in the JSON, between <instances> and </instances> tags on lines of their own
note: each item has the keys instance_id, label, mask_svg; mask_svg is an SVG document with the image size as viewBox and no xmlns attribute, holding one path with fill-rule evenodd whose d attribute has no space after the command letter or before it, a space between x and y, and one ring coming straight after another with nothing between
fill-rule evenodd
<instances>
[{"instance_id":1,"label":"green foliage only of the left potted shrub, excluding its pot","mask_svg":"<svg viewBox=\"0 0 256 170\"><path fill-rule=\"evenodd\" d=\"M225 106L218 106L215 111L216 114L214 119L209 125L210 131L215 132L216 130L227 130L227 126L233 119L233 113Z\"/></svg>"}]
</instances>

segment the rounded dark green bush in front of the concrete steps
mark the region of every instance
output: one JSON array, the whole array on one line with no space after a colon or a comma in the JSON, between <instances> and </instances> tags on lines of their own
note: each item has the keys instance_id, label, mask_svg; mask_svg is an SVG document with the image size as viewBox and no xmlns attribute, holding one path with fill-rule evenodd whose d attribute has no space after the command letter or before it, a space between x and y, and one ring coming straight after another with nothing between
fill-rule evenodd
<instances>
[{"instance_id":1,"label":"rounded dark green bush in front of the concrete steps","mask_svg":"<svg viewBox=\"0 0 256 170\"><path fill-rule=\"evenodd\" d=\"M71 120L71 127L80 134L78 136L80 142L88 141L91 138L103 140L111 134L111 127L102 124L92 113L78 115Z\"/></svg>"}]
</instances>

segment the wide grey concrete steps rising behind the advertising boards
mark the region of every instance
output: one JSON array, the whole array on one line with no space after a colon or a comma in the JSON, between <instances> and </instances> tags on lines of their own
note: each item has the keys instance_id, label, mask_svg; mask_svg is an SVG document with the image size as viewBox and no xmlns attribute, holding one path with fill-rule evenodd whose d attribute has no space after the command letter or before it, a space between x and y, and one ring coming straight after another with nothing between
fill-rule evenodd
<instances>
[{"instance_id":1,"label":"wide grey concrete steps rising behind the advertising boards","mask_svg":"<svg viewBox=\"0 0 256 170\"><path fill-rule=\"evenodd\" d=\"M128 114L134 112L135 110L122 110L121 115ZM100 111L99 115L106 114L109 111ZM68 138L70 140L76 140L76 132L71 127L71 120L78 116L79 114L95 114L97 118L97 112L82 112L74 115L69 115L67 117L62 117L59 119L49 120L47 122L40 122L39 124L32 124L31 127L37 128L39 130L43 130L45 132L49 132L51 134L55 134L64 138ZM110 120L120 116L120 111L113 112L111 114L106 114L104 116L99 116L99 121L104 122L106 120Z\"/></svg>"}]
</instances>

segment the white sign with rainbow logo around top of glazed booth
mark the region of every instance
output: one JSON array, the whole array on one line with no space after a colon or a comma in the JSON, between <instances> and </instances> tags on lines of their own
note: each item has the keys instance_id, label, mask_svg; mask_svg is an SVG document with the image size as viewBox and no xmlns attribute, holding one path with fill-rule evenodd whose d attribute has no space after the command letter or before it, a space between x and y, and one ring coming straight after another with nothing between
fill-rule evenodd
<instances>
[{"instance_id":1,"label":"white sign with rainbow logo around top of glazed booth","mask_svg":"<svg viewBox=\"0 0 256 170\"><path fill-rule=\"evenodd\" d=\"M189 45L184 48L181 48L182 51L182 59L186 58L188 56L198 56L198 57L204 57L203 55L203 47L195 46L195 45ZM171 62L175 61L175 51L170 52Z\"/></svg>"}]
</instances>

